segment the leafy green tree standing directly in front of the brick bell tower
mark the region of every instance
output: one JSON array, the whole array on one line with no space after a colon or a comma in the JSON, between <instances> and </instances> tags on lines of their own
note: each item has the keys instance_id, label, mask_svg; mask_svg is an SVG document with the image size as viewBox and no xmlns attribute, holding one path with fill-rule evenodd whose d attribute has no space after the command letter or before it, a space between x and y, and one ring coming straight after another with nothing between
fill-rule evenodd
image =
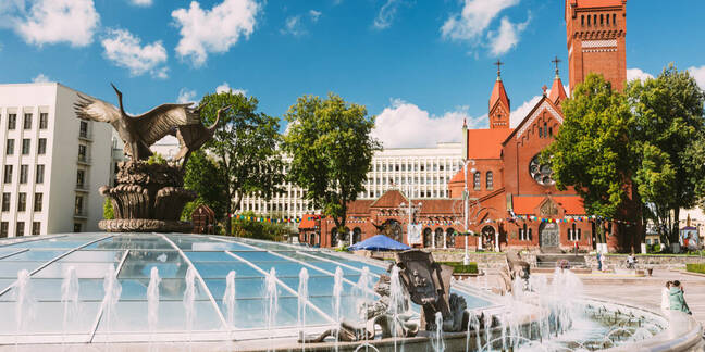
<instances>
[{"instance_id":1,"label":"leafy green tree standing directly in front of the brick bell tower","mask_svg":"<svg viewBox=\"0 0 705 352\"><path fill-rule=\"evenodd\" d=\"M561 106L564 124L555 142L543 152L543 160L553 167L556 187L574 187L588 215L617 218L634 172L630 140L634 118L627 99L602 75L590 74ZM602 226L598 230L605 242Z\"/></svg>"}]
</instances>

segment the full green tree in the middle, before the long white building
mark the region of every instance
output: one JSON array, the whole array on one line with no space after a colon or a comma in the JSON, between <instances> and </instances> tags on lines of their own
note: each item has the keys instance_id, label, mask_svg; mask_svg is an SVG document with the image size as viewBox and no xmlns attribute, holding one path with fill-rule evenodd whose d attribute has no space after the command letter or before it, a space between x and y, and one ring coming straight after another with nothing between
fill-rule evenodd
<instances>
[{"instance_id":1,"label":"full green tree in the middle, before the long white building","mask_svg":"<svg viewBox=\"0 0 705 352\"><path fill-rule=\"evenodd\" d=\"M372 154L380 143L370 136L374 116L362 105L330 93L305 96L286 113L283 150L292 158L289 179L305 198L345 229L347 204L364 190Z\"/></svg>"}]
</instances>

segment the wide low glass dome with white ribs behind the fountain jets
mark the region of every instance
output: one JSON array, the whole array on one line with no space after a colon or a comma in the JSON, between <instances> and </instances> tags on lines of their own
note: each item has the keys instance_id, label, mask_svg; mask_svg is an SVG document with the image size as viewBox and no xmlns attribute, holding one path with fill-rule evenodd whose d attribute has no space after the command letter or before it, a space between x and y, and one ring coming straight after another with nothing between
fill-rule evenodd
<instances>
[{"instance_id":1,"label":"wide low glass dome with white ribs behind the fountain jets","mask_svg":"<svg viewBox=\"0 0 705 352\"><path fill-rule=\"evenodd\" d=\"M110 305L106 276L112 267L121 290ZM160 278L157 310L148 300L152 268ZM185 298L189 268L195 277L193 301L190 294ZM272 268L276 306L267 320L265 278ZM359 319L355 303L360 299L362 273L369 271L370 286L363 291L370 296L372 285L386 273L383 262L351 254L221 236L67 234L4 239L0 240L0 313L8 318L0 319L0 343L296 337L301 329L297 327L301 268L309 275L308 332L323 331L335 322L338 268L343 273L339 314L351 322ZM227 296L226 277L233 271L235 290ZM77 278L73 289L77 303L70 299L70 272ZM491 305L467 292L454 292L466 297L468 307ZM232 309L224 303L228 298L234 299ZM150 319L148 312L157 313ZM194 312L191 319L188 312Z\"/></svg>"}]
</instances>

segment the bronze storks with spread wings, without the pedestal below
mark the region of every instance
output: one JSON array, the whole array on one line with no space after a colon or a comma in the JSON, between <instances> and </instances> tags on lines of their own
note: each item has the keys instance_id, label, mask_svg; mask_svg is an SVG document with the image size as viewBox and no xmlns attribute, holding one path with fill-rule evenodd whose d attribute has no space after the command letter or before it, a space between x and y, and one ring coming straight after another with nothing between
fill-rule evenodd
<instances>
[{"instance_id":1,"label":"bronze storks with spread wings, without the pedestal below","mask_svg":"<svg viewBox=\"0 0 705 352\"><path fill-rule=\"evenodd\" d=\"M162 104L141 115L132 116L125 112L122 92L114 85L111 86L118 95L120 109L83 95L78 95L79 100L74 109L79 118L111 124L125 143L125 154L133 161L147 160L152 155L149 147L164 136L172 135L180 141L175 161L183 159L185 165L190 152L213 137L221 113L230 109L219 110L215 123L209 127L202 125L200 108L191 108L193 103Z\"/></svg>"}]
</instances>

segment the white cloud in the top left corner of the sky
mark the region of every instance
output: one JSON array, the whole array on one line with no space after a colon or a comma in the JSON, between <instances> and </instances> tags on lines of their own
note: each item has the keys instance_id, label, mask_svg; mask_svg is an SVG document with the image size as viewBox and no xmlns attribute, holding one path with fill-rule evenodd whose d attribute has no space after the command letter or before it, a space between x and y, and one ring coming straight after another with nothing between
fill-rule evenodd
<instances>
[{"instance_id":1,"label":"white cloud in the top left corner of the sky","mask_svg":"<svg viewBox=\"0 0 705 352\"><path fill-rule=\"evenodd\" d=\"M92 0L15 0L0 5L0 20L27 43L85 47L92 42L100 15Z\"/></svg>"}]
</instances>

